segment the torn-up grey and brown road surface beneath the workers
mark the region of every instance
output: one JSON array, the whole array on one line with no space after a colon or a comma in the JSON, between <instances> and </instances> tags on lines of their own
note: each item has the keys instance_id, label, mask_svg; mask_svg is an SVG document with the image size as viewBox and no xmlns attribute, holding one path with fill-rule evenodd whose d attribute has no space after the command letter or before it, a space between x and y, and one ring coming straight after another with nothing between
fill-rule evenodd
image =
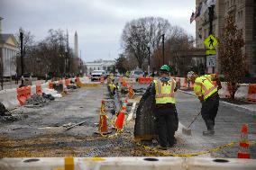
<instances>
[{"instance_id":1,"label":"torn-up grey and brown road surface beneath the workers","mask_svg":"<svg viewBox=\"0 0 256 170\"><path fill-rule=\"evenodd\" d=\"M224 103L220 104L214 137L202 136L202 130L206 129L202 118L192 125L192 136L182 134L181 124L187 125L200 107L197 98L182 92L177 93L181 124L176 133L178 144L174 148L163 152L156 150L155 145L145 147L135 144L134 120L126 122L123 133L114 135L113 132L110 138L103 138L95 132L101 100L106 98L106 87L100 85L79 88L41 108L17 109L15 112L23 115L20 120L0 124L0 157L236 157L237 144L215 152L208 151L232 141L239 141L242 123L249 124L249 138L256 141L256 113ZM108 118L112 118L110 112ZM63 127L80 121L86 122L70 130ZM256 146L253 143L253 158L256 158L255 151Z\"/></svg>"}]
</instances>

